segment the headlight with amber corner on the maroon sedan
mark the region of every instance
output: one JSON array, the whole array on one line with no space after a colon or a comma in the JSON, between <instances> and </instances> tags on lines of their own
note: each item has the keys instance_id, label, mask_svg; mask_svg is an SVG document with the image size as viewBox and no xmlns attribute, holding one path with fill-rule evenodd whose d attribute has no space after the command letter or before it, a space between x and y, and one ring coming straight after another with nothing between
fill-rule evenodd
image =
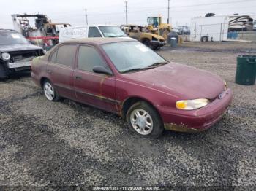
<instances>
[{"instance_id":1,"label":"headlight with amber corner on the maroon sedan","mask_svg":"<svg viewBox=\"0 0 256 191\"><path fill-rule=\"evenodd\" d=\"M184 109L184 110L193 110L193 109L198 109L203 106L206 106L209 103L210 101L204 98L194 99L194 100L181 100L181 101L176 101L176 108Z\"/></svg>"}]
</instances>

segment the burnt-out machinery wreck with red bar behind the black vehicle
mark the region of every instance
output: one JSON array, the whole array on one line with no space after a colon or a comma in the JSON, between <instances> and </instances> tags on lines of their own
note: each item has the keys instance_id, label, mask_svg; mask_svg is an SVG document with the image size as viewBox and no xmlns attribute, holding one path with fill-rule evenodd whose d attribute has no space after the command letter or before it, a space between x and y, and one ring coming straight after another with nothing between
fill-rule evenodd
<instances>
[{"instance_id":1,"label":"burnt-out machinery wreck with red bar behind the black vehicle","mask_svg":"<svg viewBox=\"0 0 256 191\"><path fill-rule=\"evenodd\" d=\"M29 23L31 18L34 18L34 26ZM46 15L42 14L15 14L12 15L12 23L15 31L46 50L59 42L60 28L71 26L69 23L52 23Z\"/></svg>"}]
</instances>

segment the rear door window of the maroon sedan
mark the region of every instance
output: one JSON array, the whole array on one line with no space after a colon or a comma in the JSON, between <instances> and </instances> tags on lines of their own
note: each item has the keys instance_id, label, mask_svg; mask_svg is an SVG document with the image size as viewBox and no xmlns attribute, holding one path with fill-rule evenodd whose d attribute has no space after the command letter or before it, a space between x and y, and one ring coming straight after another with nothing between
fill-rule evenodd
<instances>
[{"instance_id":1,"label":"rear door window of the maroon sedan","mask_svg":"<svg viewBox=\"0 0 256 191\"><path fill-rule=\"evenodd\" d=\"M56 56L56 63L59 63L64 66L73 66L75 61L75 50L77 46L72 44L65 44L59 47L58 53Z\"/></svg>"}]
</instances>

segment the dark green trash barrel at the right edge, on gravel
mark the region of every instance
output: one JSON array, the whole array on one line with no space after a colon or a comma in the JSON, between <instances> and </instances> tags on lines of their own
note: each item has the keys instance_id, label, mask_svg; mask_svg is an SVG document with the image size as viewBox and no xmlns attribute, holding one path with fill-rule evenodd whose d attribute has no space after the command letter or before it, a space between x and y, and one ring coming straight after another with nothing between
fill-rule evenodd
<instances>
[{"instance_id":1,"label":"dark green trash barrel at the right edge, on gravel","mask_svg":"<svg viewBox=\"0 0 256 191\"><path fill-rule=\"evenodd\" d=\"M236 83L254 85L256 78L256 55L238 55L236 66Z\"/></svg>"}]
</instances>

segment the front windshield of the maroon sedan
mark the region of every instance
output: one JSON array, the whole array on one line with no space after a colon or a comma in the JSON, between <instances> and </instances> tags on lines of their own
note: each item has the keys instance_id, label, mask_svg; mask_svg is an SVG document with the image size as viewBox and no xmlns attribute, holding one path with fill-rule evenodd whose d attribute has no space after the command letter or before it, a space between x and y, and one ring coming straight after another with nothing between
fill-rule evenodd
<instances>
[{"instance_id":1,"label":"front windshield of the maroon sedan","mask_svg":"<svg viewBox=\"0 0 256 191\"><path fill-rule=\"evenodd\" d=\"M102 48L121 73L151 69L168 63L164 58L140 42L115 42L103 44Z\"/></svg>"}]
</instances>

